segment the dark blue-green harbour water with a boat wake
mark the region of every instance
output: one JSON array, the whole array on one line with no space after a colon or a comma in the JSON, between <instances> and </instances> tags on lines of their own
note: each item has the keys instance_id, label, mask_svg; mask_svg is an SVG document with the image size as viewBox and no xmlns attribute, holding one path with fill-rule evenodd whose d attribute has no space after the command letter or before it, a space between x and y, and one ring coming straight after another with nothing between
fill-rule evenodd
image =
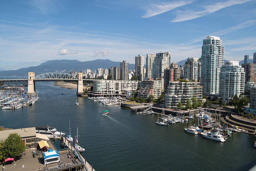
<instances>
[{"instance_id":1,"label":"dark blue-green harbour water with a boat wake","mask_svg":"<svg viewBox=\"0 0 256 171\"><path fill-rule=\"evenodd\" d=\"M156 125L156 115L137 115L120 105L102 105L78 97L76 89L36 82L33 106L0 110L0 125L22 128L50 125L72 137L78 127L82 153L100 170L248 170L256 164L254 135L234 133L217 142L184 131L183 124ZM62 95L63 93L63 95ZM109 115L102 115L109 110ZM196 121L195 121L196 122ZM188 124L192 124L189 121Z\"/></svg>"}]
</instances>

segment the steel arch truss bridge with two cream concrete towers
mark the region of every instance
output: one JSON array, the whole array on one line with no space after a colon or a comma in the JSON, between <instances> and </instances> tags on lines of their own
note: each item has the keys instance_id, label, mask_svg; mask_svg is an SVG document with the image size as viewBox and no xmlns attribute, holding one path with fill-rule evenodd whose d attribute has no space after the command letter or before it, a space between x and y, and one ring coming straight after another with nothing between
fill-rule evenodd
<instances>
[{"instance_id":1,"label":"steel arch truss bridge with two cream concrete towers","mask_svg":"<svg viewBox=\"0 0 256 171\"><path fill-rule=\"evenodd\" d=\"M0 80L0 87L19 87L28 86L28 94L34 94L36 89L35 85L38 81L77 81L77 95L84 93L83 90L83 74L78 73L78 78L76 76L66 73L46 73L40 74L35 77L34 72L28 73L28 79L4 79ZM92 82L92 80L87 80Z\"/></svg>"}]
</instances>

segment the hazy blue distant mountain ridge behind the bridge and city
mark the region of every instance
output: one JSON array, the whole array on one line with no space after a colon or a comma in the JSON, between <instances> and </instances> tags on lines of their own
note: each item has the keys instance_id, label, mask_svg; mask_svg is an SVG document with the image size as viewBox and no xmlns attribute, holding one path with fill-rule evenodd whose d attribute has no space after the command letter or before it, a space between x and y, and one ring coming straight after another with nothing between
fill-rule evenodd
<instances>
[{"instance_id":1,"label":"hazy blue distant mountain ridge behind the bridge and city","mask_svg":"<svg viewBox=\"0 0 256 171\"><path fill-rule=\"evenodd\" d=\"M92 71L97 68L111 68L120 67L120 62L114 62L111 60L92 60L86 62L80 62L78 60L50 60L40 64L39 66L31 66L28 68L20 68L18 70L0 71L1 76L27 76L28 72L34 72L35 75L44 74L48 72L63 72L70 73L71 71L85 71L90 69ZM135 64L128 64L129 70L135 69Z\"/></svg>"}]
</instances>

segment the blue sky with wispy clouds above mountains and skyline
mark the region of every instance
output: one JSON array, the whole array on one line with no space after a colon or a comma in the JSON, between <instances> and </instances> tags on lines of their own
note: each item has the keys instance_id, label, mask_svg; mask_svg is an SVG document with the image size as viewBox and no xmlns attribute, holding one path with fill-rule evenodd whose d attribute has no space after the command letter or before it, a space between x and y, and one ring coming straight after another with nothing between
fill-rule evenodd
<instances>
[{"instance_id":1,"label":"blue sky with wispy clouds above mountains and skyline","mask_svg":"<svg viewBox=\"0 0 256 171\"><path fill-rule=\"evenodd\" d=\"M170 52L171 62L200 58L218 36L225 60L256 52L256 0L0 0L0 70L48 60L134 64Z\"/></svg>"}]
</instances>

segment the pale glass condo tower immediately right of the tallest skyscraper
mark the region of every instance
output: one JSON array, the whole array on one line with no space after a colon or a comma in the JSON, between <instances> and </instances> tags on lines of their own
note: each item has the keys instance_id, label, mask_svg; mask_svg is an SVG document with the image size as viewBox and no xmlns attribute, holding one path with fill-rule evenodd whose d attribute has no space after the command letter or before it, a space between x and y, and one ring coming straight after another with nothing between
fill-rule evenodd
<instances>
[{"instance_id":1,"label":"pale glass condo tower immediately right of the tallest skyscraper","mask_svg":"<svg viewBox=\"0 0 256 171\"><path fill-rule=\"evenodd\" d=\"M220 69L219 95L223 100L244 93L244 68L237 61L228 61ZM227 101L226 101L227 102Z\"/></svg>"}]
</instances>

